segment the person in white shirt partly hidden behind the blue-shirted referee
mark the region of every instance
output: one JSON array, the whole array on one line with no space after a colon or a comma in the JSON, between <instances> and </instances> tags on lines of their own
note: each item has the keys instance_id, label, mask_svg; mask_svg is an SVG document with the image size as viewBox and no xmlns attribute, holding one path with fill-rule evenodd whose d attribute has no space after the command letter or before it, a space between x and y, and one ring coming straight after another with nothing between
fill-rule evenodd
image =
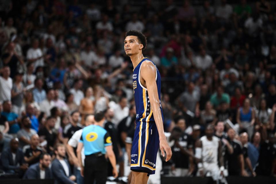
<instances>
[{"instance_id":1,"label":"person in white shirt partly hidden behind the blue-shirted referee","mask_svg":"<svg viewBox=\"0 0 276 184\"><path fill-rule=\"evenodd\" d=\"M94 124L94 115L87 115L85 118L85 126ZM81 176L81 167L79 165L78 162L78 158L76 156L76 154L74 153L74 148L77 148L78 146L78 141L81 139L81 135L83 133L83 129L80 129L78 131L76 131L73 136L69 139L66 148L68 150L68 155L69 158L71 157L73 162L74 162L74 166L77 168L77 171L75 172L76 174L76 182L77 183L83 183L83 177ZM85 159L85 155L84 155L84 147L81 150L81 158L82 158L82 162L83 162L83 166L84 166L84 159Z\"/></svg>"}]
</instances>

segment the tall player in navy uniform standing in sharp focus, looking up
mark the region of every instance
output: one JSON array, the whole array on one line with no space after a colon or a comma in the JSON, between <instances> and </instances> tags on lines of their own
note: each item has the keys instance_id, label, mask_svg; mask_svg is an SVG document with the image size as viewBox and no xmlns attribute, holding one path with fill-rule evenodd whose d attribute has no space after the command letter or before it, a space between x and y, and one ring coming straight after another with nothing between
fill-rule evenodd
<instances>
[{"instance_id":1,"label":"tall player in navy uniform standing in sharp focus, looking up","mask_svg":"<svg viewBox=\"0 0 276 184\"><path fill-rule=\"evenodd\" d=\"M139 31L126 33L124 50L133 64L133 93L136 106L136 129L131 148L131 184L147 183L155 173L156 156L160 147L166 161L172 151L163 128L163 112L160 100L161 77L156 65L142 54L147 39Z\"/></svg>"}]
</instances>

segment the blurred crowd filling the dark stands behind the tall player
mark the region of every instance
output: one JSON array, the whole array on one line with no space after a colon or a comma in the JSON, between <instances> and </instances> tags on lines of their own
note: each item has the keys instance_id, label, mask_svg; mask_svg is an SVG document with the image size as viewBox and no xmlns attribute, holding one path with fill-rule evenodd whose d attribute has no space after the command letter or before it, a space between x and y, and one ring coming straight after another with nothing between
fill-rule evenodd
<instances>
[{"instance_id":1,"label":"blurred crowd filling the dark stands behind the tall player","mask_svg":"<svg viewBox=\"0 0 276 184\"><path fill-rule=\"evenodd\" d=\"M126 31L139 30L147 37L143 55L162 77L173 157L161 173L195 176L196 163L181 148L194 153L212 124L229 175L275 175L275 5L0 0L1 170L22 177L42 153L64 155L56 146L62 143L74 173L78 163L68 140L86 115L106 111L120 176L126 175L136 113L123 41Z\"/></svg>"}]
</instances>

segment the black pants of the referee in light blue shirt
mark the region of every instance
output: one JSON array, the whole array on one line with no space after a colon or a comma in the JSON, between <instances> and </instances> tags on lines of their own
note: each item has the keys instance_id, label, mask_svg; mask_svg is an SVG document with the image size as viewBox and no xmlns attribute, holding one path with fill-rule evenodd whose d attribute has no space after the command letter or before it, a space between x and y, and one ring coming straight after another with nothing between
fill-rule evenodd
<instances>
[{"instance_id":1,"label":"black pants of the referee in light blue shirt","mask_svg":"<svg viewBox=\"0 0 276 184\"><path fill-rule=\"evenodd\" d=\"M84 160L84 183L105 184L107 178L107 161L104 155L96 157L95 155L85 156Z\"/></svg>"}]
</instances>

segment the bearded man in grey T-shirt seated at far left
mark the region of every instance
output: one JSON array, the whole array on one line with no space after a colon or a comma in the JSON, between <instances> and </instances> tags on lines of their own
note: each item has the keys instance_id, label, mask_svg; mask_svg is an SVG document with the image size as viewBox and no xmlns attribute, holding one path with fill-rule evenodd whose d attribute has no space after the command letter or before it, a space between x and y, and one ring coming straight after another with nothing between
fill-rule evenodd
<instances>
[{"instance_id":1,"label":"bearded man in grey T-shirt seated at far left","mask_svg":"<svg viewBox=\"0 0 276 184\"><path fill-rule=\"evenodd\" d=\"M32 123L28 116L23 116L21 118L22 128L17 132L17 137L19 139L19 147L22 148L27 144L30 144L30 139L32 135L37 132L31 129Z\"/></svg>"}]
</instances>

